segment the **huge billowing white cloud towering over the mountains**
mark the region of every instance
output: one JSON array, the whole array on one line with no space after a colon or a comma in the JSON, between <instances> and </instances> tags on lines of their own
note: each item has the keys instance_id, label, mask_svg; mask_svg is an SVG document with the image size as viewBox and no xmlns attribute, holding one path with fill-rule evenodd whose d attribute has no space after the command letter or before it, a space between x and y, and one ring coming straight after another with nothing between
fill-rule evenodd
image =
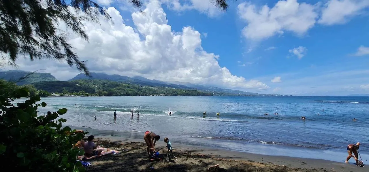
<instances>
[{"instance_id":1,"label":"huge billowing white cloud towering over the mountains","mask_svg":"<svg viewBox=\"0 0 369 172\"><path fill-rule=\"evenodd\" d=\"M232 75L226 67L219 66L218 56L201 47L200 33L194 28L183 27L182 32L173 31L157 0L147 4L145 13L132 13L137 29L126 25L124 16L114 7L107 11L114 24L103 19L100 24L83 22L89 42L70 35L70 44L75 47L80 60L87 60L91 72L242 90L269 88L258 80L248 81ZM22 70L45 69L44 72L50 72L58 79L70 79L79 73L65 63L52 60L30 63L20 59L17 62Z\"/></svg>"}]
</instances>

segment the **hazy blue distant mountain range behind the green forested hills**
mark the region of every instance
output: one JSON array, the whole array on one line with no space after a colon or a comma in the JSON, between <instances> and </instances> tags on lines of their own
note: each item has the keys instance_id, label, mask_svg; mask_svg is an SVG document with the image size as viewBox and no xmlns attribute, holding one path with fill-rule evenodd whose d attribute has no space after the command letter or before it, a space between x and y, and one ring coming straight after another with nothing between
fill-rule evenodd
<instances>
[{"instance_id":1,"label":"hazy blue distant mountain range behind the green forested hills","mask_svg":"<svg viewBox=\"0 0 369 172\"><path fill-rule=\"evenodd\" d=\"M21 70L9 70L6 72L0 72L0 79L16 81L22 76L27 75L30 72ZM140 86L151 87L170 87L175 89L197 89L201 92L212 93L214 96L283 96L278 94L258 94L251 92L244 92L240 90L223 89L213 86L196 85L188 82L164 82L155 79L147 79L141 76L128 77L121 75L108 75L106 73L91 73L90 76L86 76L83 73L76 75L74 78L68 80L80 80L80 79L97 79L97 80L110 80L115 82L135 84ZM17 85L30 84L42 81L57 81L50 73L34 73L27 79L24 79L17 83Z\"/></svg>"}]
</instances>

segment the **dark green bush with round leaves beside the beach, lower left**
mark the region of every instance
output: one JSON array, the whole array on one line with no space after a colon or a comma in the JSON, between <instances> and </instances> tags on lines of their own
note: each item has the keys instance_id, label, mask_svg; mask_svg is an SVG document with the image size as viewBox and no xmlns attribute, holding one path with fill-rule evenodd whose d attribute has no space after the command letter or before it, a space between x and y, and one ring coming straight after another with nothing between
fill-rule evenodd
<instances>
[{"instance_id":1,"label":"dark green bush with round leaves beside the beach, lower left","mask_svg":"<svg viewBox=\"0 0 369 172\"><path fill-rule=\"evenodd\" d=\"M13 171L83 171L76 157L83 152L73 144L86 133L63 127L66 120L58 118L67 109L59 109L49 116L38 116L37 109L46 103L37 103L32 96L23 103L14 99L26 97L27 88L12 88L0 82L0 168ZM58 118L58 119L57 119ZM56 120L57 119L57 120Z\"/></svg>"}]
</instances>

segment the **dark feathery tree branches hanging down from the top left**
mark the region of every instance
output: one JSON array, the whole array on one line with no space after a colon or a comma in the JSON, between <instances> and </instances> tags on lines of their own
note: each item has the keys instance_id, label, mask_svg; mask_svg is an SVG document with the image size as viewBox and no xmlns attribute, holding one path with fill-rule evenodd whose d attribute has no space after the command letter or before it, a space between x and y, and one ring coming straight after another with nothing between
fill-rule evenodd
<instances>
[{"instance_id":1,"label":"dark feathery tree branches hanging down from the top left","mask_svg":"<svg viewBox=\"0 0 369 172\"><path fill-rule=\"evenodd\" d=\"M138 8L143 5L141 0L128 1ZM228 8L229 0L210 1L221 11ZM9 56L11 65L16 65L19 55L29 56L31 61L44 58L66 61L88 75L85 61L80 61L73 52L68 33L59 30L58 24L65 24L88 41L82 21L98 23L101 16L111 20L103 7L90 0L0 0L0 54L3 58Z\"/></svg>"}]
</instances>

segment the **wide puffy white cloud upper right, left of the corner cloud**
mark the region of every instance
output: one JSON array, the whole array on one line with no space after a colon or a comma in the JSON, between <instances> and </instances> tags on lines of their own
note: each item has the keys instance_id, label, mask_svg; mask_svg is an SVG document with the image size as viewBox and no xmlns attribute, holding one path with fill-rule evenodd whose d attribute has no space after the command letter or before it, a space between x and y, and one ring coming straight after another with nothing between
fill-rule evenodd
<instances>
[{"instance_id":1,"label":"wide puffy white cloud upper right, left of the corner cloud","mask_svg":"<svg viewBox=\"0 0 369 172\"><path fill-rule=\"evenodd\" d=\"M297 0L280 0L272 8L268 5L259 8L244 2L238 5L238 14L247 23L242 30L243 36L256 41L284 31L303 35L318 17L316 6Z\"/></svg>"}]
</instances>

